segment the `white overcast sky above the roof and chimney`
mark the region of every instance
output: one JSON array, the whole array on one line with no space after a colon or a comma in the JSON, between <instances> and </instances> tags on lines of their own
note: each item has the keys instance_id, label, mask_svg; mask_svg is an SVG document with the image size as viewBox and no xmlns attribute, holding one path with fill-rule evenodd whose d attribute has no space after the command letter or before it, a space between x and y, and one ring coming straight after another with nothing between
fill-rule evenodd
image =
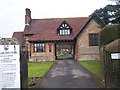
<instances>
[{"instance_id":1,"label":"white overcast sky above the roof and chimney","mask_svg":"<svg viewBox=\"0 0 120 90\"><path fill-rule=\"evenodd\" d=\"M103 8L108 0L0 0L0 37L12 37L25 27L25 8L33 19L86 17Z\"/></svg>"}]
</instances>

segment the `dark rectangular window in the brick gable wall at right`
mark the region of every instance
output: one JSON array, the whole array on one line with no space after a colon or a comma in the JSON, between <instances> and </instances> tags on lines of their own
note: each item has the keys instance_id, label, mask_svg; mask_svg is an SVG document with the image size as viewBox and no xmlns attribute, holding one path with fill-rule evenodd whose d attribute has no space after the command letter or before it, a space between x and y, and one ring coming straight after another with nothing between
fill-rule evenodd
<instances>
[{"instance_id":1,"label":"dark rectangular window in the brick gable wall at right","mask_svg":"<svg viewBox=\"0 0 120 90\"><path fill-rule=\"evenodd\" d=\"M89 46L98 46L98 34L89 34Z\"/></svg>"}]
</instances>

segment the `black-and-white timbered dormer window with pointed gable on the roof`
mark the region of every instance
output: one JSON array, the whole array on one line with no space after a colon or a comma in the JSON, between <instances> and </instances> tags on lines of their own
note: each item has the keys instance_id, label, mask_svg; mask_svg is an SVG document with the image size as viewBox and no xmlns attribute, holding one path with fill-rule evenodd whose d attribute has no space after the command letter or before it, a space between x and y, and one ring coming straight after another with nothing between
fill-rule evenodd
<instances>
[{"instance_id":1,"label":"black-and-white timbered dormer window with pointed gable on the roof","mask_svg":"<svg viewBox=\"0 0 120 90\"><path fill-rule=\"evenodd\" d=\"M67 24L66 21L63 21L57 30L58 30L58 35L67 36L71 34L72 28Z\"/></svg>"}]
</instances>

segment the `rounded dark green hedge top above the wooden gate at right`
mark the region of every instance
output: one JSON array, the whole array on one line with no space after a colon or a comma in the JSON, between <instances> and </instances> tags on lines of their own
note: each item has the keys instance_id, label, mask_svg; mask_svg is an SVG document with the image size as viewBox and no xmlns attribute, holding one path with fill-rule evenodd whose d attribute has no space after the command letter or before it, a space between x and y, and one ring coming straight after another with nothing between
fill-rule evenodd
<instances>
[{"instance_id":1,"label":"rounded dark green hedge top above the wooden gate at right","mask_svg":"<svg viewBox=\"0 0 120 90\"><path fill-rule=\"evenodd\" d=\"M107 25L99 33L99 45L104 46L120 38L120 24Z\"/></svg>"}]
</instances>

